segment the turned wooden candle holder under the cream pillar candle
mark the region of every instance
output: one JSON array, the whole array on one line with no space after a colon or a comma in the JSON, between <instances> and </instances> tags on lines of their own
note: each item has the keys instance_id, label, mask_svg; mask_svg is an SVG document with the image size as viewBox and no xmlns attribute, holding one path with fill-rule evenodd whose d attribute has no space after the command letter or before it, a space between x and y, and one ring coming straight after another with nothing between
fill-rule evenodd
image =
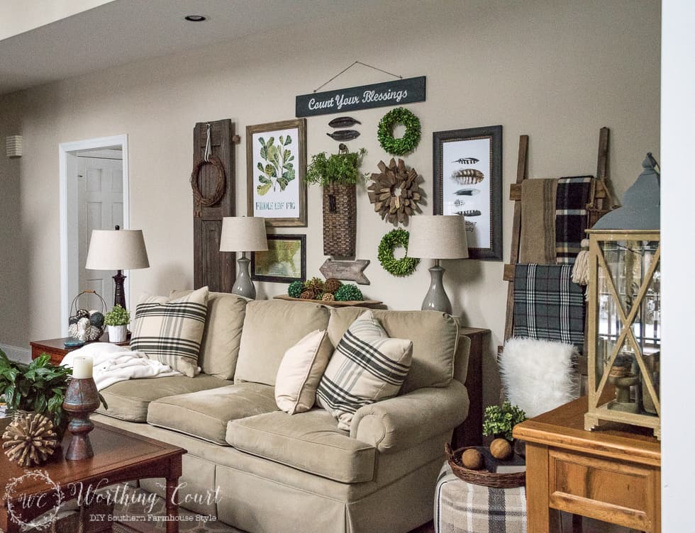
<instances>
[{"instance_id":1,"label":"turned wooden candle holder under the cream pillar candle","mask_svg":"<svg viewBox=\"0 0 695 533\"><path fill-rule=\"evenodd\" d=\"M72 433L72 439L67 446L65 459L79 461L94 456L89 442L89 432L94 430L94 424L89 420L89 413L99 407L99 391L96 389L94 378L72 378L65 392L62 408L70 417L67 430Z\"/></svg>"}]
</instances>

